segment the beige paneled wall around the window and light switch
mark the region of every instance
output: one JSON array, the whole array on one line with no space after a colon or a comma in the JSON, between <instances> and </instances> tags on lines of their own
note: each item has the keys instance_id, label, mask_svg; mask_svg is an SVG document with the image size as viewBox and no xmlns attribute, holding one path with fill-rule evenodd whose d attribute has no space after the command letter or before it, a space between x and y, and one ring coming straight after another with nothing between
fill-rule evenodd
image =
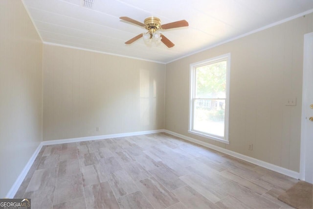
<instances>
[{"instance_id":1,"label":"beige paneled wall around the window and light switch","mask_svg":"<svg viewBox=\"0 0 313 209\"><path fill-rule=\"evenodd\" d=\"M165 129L299 171L303 36L313 14L166 65ZM187 133L189 65L231 53L229 141ZM289 97L296 106L285 106ZM253 143L253 151L248 144Z\"/></svg>"}]
</instances>

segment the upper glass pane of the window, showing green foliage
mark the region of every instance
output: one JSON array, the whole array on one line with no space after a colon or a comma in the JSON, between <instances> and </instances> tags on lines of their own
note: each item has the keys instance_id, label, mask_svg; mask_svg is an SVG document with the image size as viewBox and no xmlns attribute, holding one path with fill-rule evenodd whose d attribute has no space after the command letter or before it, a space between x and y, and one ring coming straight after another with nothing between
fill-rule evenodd
<instances>
[{"instance_id":1,"label":"upper glass pane of the window, showing green foliage","mask_svg":"<svg viewBox=\"0 0 313 209\"><path fill-rule=\"evenodd\" d=\"M196 68L196 98L226 98L226 61Z\"/></svg>"}]
</instances>

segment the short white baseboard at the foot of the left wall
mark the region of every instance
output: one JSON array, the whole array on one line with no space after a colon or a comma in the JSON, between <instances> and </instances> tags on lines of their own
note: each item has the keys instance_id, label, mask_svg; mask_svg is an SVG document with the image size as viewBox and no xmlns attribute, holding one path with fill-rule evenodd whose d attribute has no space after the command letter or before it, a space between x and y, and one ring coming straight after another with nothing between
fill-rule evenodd
<instances>
[{"instance_id":1,"label":"short white baseboard at the foot of the left wall","mask_svg":"<svg viewBox=\"0 0 313 209\"><path fill-rule=\"evenodd\" d=\"M40 152L41 148L43 147L42 142L38 145L37 149L35 150L34 154L30 157L29 161L26 163L25 167L23 168L22 172L20 173L19 177L14 182L13 186L10 188L8 193L6 194L6 198L14 198L16 192L20 188L24 178L26 177L30 167L34 163L38 153Z\"/></svg>"}]
</instances>

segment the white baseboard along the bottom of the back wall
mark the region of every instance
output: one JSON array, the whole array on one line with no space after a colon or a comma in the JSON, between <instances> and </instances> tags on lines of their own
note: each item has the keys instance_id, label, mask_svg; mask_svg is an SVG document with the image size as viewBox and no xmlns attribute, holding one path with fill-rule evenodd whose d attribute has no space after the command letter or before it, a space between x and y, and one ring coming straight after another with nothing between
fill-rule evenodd
<instances>
[{"instance_id":1,"label":"white baseboard along the bottom of the back wall","mask_svg":"<svg viewBox=\"0 0 313 209\"><path fill-rule=\"evenodd\" d=\"M164 129L159 129L159 130L151 130L151 131L138 131L138 132L129 132L129 133L121 133L121 134L92 136L92 137L79 137L79 138L72 138L72 139L56 139L56 140L43 141L42 145L64 144L64 143L79 142L79 141L130 137L130 136L138 136L138 135L144 135L144 134L156 134L156 133L161 133L164 131L165 131Z\"/></svg>"}]
</instances>

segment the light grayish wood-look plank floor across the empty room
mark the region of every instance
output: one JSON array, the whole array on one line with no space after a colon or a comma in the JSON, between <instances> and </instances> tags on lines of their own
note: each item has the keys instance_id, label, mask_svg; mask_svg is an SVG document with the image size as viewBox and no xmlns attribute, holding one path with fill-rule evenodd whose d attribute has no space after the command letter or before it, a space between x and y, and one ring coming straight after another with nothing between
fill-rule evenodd
<instances>
[{"instance_id":1,"label":"light grayish wood-look plank floor across the empty room","mask_svg":"<svg viewBox=\"0 0 313 209\"><path fill-rule=\"evenodd\" d=\"M32 209L285 209L297 180L164 133L43 146Z\"/></svg>"}]
</instances>

